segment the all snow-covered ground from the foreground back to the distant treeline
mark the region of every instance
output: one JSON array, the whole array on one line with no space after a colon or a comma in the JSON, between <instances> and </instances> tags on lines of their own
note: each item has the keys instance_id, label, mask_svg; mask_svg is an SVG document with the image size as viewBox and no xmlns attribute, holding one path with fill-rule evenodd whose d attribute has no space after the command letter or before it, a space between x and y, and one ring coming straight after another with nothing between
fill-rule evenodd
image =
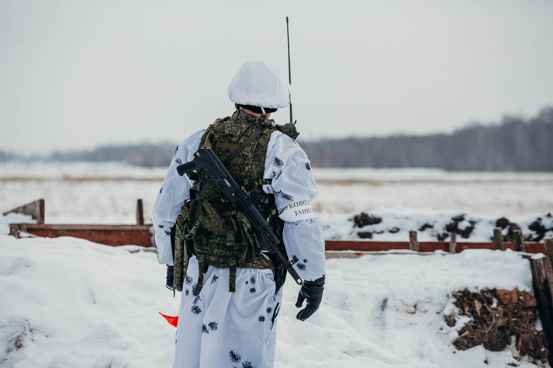
<instances>
[{"instance_id":1,"label":"all snow-covered ground from the foreground back to the distant treeline","mask_svg":"<svg viewBox=\"0 0 553 368\"><path fill-rule=\"evenodd\" d=\"M44 198L49 223L134 223L142 198L148 221L164 173L121 163L0 164L0 211ZM500 216L523 233L540 216L553 235L547 217L553 174L316 168L314 174L320 195L313 205L326 238L371 231L373 239L406 240L409 230L432 225L419 232L425 241L463 213L458 227L474 222L474 241L487 240ZM361 211L382 222L353 227ZM0 217L0 295L9 295L0 297L0 346L6 346L0 366L170 367L175 329L158 312L175 315L180 300L164 288L165 268L155 253L3 235L8 223L27 221ZM394 227L400 230L390 232ZM455 308L451 292L465 287L531 290L528 260L489 250L328 259L323 305L314 317L296 321L298 287L284 289L275 367L536 367L515 360L514 348L455 349L462 323L448 327L444 313Z\"/></svg>"}]
</instances>

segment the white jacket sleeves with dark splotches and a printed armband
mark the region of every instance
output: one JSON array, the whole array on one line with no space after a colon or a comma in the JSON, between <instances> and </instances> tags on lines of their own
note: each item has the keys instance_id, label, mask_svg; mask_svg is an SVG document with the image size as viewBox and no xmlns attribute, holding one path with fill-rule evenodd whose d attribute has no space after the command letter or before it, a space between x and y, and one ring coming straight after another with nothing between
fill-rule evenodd
<instances>
[{"instance_id":1,"label":"white jacket sleeves with dark splotches and a printed armband","mask_svg":"<svg viewBox=\"0 0 553 368\"><path fill-rule=\"evenodd\" d=\"M158 197L152 209L155 228L155 244L158 262L173 265L170 229L180 214L180 207L189 199L194 184L186 175L176 171L181 163L191 161L200 145L205 130L197 131L177 147ZM310 202L317 196L318 188L313 178L307 155L296 141L279 131L273 132L267 145L265 179L271 185L263 185L265 193L275 194L279 217L285 222L283 241L289 259L298 258L294 268L302 279L312 281L325 274L325 240L322 222L315 217Z\"/></svg>"}]
</instances>

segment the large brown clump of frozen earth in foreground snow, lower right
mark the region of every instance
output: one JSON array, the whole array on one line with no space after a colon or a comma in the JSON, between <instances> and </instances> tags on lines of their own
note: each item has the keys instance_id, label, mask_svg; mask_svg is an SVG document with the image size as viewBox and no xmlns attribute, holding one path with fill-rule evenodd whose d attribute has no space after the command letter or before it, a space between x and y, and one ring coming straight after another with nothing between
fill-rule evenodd
<instances>
[{"instance_id":1,"label":"large brown clump of frozen earth in foreground snow, lower right","mask_svg":"<svg viewBox=\"0 0 553 368\"><path fill-rule=\"evenodd\" d=\"M528 356L534 363L547 362L545 334L536 329L539 314L536 299L530 292L518 289L471 292L465 289L453 292L452 296L458 311L444 316L448 326L455 326L457 316L472 318L453 340L457 349L483 345L488 350L501 351L514 341L519 357Z\"/></svg>"}]
</instances>

